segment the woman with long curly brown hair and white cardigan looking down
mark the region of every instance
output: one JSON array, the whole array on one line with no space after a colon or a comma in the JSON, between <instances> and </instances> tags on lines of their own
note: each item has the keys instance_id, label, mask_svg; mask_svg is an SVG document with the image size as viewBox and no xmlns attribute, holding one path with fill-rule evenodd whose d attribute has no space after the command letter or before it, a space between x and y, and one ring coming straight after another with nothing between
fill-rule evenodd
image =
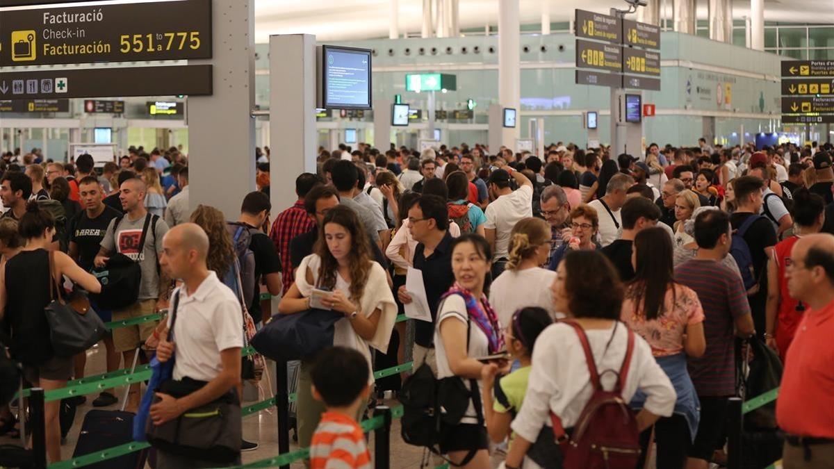
<instances>
[{"instance_id":1,"label":"woman with long curly brown hair and white cardigan looking down","mask_svg":"<svg viewBox=\"0 0 834 469\"><path fill-rule=\"evenodd\" d=\"M314 254L301 261L295 282L278 305L282 315L310 309L313 290L328 290L321 302L325 308L344 315L334 325L333 345L358 350L368 361L370 348L388 351L397 315L394 295L385 270L371 257L368 236L356 213L337 205L324 215ZM301 361L298 386L299 445L309 446L315 427L324 413L324 403L314 399L310 386L312 361ZM369 374L369 385L374 376ZM359 417L364 406L359 409Z\"/></svg>"}]
</instances>

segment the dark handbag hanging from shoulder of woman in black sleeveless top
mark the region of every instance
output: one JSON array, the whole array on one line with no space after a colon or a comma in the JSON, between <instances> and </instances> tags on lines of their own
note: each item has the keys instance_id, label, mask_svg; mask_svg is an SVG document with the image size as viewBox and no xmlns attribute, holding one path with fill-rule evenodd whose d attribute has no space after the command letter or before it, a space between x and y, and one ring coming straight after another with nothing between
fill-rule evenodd
<instances>
[{"instance_id":1,"label":"dark handbag hanging from shoulder of woman in black sleeveless top","mask_svg":"<svg viewBox=\"0 0 834 469\"><path fill-rule=\"evenodd\" d=\"M53 272L55 261L49 253L49 304L43 309L49 323L56 356L75 356L95 345L107 334L101 318L90 308L90 302L78 290L69 303L64 302L61 288ZM93 312L93 314L89 314Z\"/></svg>"}]
</instances>

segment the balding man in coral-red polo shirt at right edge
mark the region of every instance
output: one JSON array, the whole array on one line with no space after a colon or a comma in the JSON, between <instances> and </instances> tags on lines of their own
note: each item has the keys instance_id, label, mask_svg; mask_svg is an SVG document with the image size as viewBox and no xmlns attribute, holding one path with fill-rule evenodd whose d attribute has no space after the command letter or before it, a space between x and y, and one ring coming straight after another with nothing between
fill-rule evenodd
<instances>
[{"instance_id":1,"label":"balding man in coral-red polo shirt at right edge","mask_svg":"<svg viewBox=\"0 0 834 469\"><path fill-rule=\"evenodd\" d=\"M834 466L834 236L796 241L787 270L791 296L808 305L787 350L776 421L785 431L784 469Z\"/></svg>"}]
</instances>

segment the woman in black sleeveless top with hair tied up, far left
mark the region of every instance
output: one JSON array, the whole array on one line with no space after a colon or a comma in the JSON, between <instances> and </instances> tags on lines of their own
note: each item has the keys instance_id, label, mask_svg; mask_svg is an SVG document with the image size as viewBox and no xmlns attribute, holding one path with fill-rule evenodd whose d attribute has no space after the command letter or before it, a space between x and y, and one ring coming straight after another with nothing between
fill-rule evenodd
<instances>
[{"instance_id":1,"label":"woman in black sleeveless top with hair tied up, far left","mask_svg":"<svg viewBox=\"0 0 834 469\"><path fill-rule=\"evenodd\" d=\"M26 245L0 270L0 320L5 320L11 331L9 352L15 361L23 363L27 381L33 387L53 391L67 386L73 376L73 357L55 355L44 308L56 295L54 289L63 294L64 275L91 293L101 292L102 285L68 255L49 250L55 219L37 202L27 204L18 232ZM61 461L59 405L60 401L51 401L44 408L50 462Z\"/></svg>"}]
</instances>

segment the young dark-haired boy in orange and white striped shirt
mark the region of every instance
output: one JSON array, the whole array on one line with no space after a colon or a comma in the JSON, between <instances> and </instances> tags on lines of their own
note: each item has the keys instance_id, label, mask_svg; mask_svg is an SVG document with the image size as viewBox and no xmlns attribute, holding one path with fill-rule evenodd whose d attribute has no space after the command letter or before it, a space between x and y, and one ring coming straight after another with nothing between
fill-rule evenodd
<instances>
[{"instance_id":1,"label":"young dark-haired boy in orange and white striped shirt","mask_svg":"<svg viewBox=\"0 0 834 469\"><path fill-rule=\"evenodd\" d=\"M327 411L310 442L311 469L372 467L364 433L355 420L359 406L368 401L369 373L368 362L354 349L332 347L319 354L311 372L313 396L324 402Z\"/></svg>"}]
</instances>

